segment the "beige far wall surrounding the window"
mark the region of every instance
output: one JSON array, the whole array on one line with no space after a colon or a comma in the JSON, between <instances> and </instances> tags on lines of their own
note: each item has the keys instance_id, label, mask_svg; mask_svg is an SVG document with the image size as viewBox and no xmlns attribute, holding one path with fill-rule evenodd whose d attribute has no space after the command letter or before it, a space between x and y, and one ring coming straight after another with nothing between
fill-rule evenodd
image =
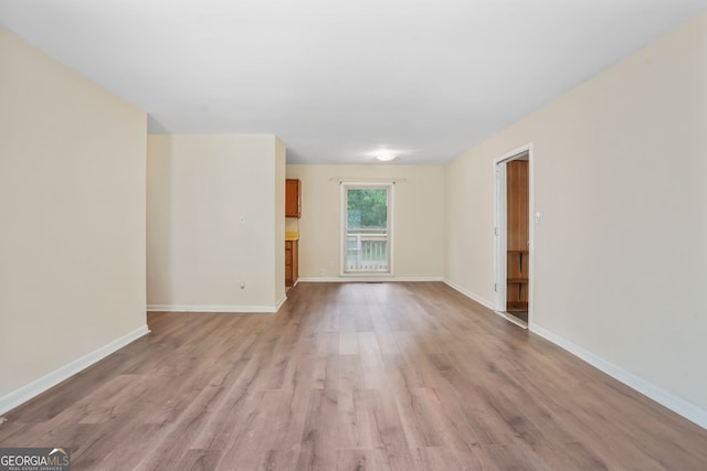
<instances>
[{"instance_id":1,"label":"beige far wall surrounding the window","mask_svg":"<svg viewBox=\"0 0 707 471\"><path fill-rule=\"evenodd\" d=\"M442 279L442 167L287 165L287 178L302 181L302 218L298 222L300 278L339 277L339 179L402 179L405 181L397 183L393 192L394 276L403 279ZM288 231L291 225L292 221Z\"/></svg>"}]
</instances>

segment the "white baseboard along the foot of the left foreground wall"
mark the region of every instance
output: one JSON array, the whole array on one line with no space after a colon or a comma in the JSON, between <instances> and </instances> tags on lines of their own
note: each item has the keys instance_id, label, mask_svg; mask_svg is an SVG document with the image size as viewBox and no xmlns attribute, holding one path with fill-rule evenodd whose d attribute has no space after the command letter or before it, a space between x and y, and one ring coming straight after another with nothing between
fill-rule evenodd
<instances>
[{"instance_id":1,"label":"white baseboard along the foot of the left foreground wall","mask_svg":"<svg viewBox=\"0 0 707 471\"><path fill-rule=\"evenodd\" d=\"M80 373L88 366L99 362L109 354L123 349L125 345L136 341L147 333L149 333L147 324L141 325L133 332L129 332L122 338L114 340L107 345L104 345L88 353L87 355L74 360L73 362L67 363L49 374L45 374L44 376L33 381L32 383L0 397L0 414L6 414L7 411L14 409L19 405L24 404L28 400L39 396L46 389L56 386L59 383L65 379L68 379L76 373Z\"/></svg>"}]
</instances>

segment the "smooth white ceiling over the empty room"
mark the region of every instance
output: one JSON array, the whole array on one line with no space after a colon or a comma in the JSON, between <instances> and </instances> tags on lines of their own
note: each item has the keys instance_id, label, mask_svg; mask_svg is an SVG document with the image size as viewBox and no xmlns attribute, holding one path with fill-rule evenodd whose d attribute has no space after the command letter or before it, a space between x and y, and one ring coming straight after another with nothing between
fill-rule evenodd
<instances>
[{"instance_id":1,"label":"smooth white ceiling over the empty room","mask_svg":"<svg viewBox=\"0 0 707 471\"><path fill-rule=\"evenodd\" d=\"M0 0L0 23L149 114L276 133L288 163L443 163L707 0Z\"/></svg>"}]
</instances>

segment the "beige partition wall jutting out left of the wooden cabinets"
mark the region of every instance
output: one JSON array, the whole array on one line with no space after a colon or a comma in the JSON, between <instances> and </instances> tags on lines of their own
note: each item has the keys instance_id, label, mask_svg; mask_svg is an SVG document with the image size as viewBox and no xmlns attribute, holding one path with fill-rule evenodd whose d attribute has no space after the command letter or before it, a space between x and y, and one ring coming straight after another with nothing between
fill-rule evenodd
<instances>
[{"instance_id":1,"label":"beige partition wall jutting out left of the wooden cabinets","mask_svg":"<svg viewBox=\"0 0 707 471\"><path fill-rule=\"evenodd\" d=\"M148 137L150 309L268 311L282 301L284 152L274 136Z\"/></svg>"}]
</instances>

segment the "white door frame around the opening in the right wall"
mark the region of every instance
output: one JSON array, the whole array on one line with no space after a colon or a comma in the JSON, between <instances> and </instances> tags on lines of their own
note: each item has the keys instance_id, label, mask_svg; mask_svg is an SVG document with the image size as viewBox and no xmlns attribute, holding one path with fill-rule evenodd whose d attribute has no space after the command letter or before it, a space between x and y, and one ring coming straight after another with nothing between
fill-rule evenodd
<instances>
[{"instance_id":1,"label":"white door frame around the opening in the right wall","mask_svg":"<svg viewBox=\"0 0 707 471\"><path fill-rule=\"evenodd\" d=\"M506 311L506 269L507 269L507 253L508 245L508 232L507 232L507 208L508 208L508 195L507 195L507 174L506 163L517 160L525 154L528 156L528 325L509 314ZM534 179L534 156L532 156L532 142L528 142L519 148L516 148L509 152L504 153L499 158L494 160L494 311L503 318L517 323L523 328L532 328L534 325L534 286L535 286L535 218L532 217L535 211L535 179Z\"/></svg>"}]
</instances>

